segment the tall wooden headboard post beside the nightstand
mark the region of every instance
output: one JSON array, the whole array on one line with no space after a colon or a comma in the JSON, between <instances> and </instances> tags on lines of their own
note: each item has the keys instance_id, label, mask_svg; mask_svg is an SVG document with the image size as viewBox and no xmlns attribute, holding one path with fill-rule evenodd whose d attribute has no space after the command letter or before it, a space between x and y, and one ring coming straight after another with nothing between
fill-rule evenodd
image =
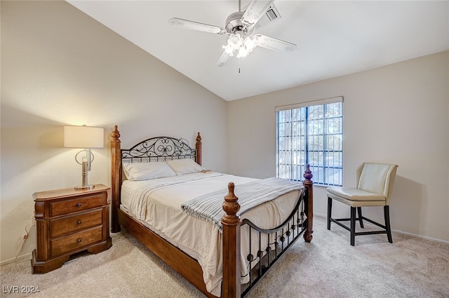
<instances>
[{"instance_id":1,"label":"tall wooden headboard post beside the nightstand","mask_svg":"<svg viewBox=\"0 0 449 298\"><path fill-rule=\"evenodd\" d=\"M112 156L112 208L111 208L111 231L116 233L120 231L119 215L117 208L120 207L120 184L121 184L121 142L119 140L120 133L117 126L114 126L111 140L111 156Z\"/></svg>"}]
</instances>

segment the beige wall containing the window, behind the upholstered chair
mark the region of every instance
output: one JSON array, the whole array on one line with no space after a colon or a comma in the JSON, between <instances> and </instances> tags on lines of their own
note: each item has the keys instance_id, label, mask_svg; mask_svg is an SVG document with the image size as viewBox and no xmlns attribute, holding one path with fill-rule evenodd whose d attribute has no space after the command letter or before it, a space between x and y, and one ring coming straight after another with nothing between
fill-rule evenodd
<instances>
[{"instance_id":1,"label":"beige wall containing the window, behind the upholstered chair","mask_svg":"<svg viewBox=\"0 0 449 298\"><path fill-rule=\"evenodd\" d=\"M335 96L344 97L344 186L363 161L398 164L393 229L449 241L449 52L229 102L229 172L276 175L274 108ZM326 215L326 190L315 191L314 212Z\"/></svg>"}]
</instances>

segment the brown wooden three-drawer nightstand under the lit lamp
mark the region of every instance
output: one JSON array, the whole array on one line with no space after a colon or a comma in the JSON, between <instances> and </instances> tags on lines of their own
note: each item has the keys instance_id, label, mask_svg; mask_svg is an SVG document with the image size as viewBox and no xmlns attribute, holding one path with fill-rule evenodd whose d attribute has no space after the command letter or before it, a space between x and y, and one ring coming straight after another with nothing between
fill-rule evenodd
<instances>
[{"instance_id":1,"label":"brown wooden three-drawer nightstand under the lit lamp","mask_svg":"<svg viewBox=\"0 0 449 298\"><path fill-rule=\"evenodd\" d=\"M57 189L33 194L36 249L32 273L60 268L71 255L98 253L112 246L109 236L110 189L96 184L90 190Z\"/></svg>"}]
</instances>

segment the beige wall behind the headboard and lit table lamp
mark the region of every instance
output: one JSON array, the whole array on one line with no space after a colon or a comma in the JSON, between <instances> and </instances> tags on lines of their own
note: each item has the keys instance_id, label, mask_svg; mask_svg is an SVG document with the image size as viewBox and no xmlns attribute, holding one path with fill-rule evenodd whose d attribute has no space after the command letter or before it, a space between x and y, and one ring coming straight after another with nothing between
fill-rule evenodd
<instances>
[{"instance_id":1,"label":"beige wall behind the headboard and lit table lamp","mask_svg":"<svg viewBox=\"0 0 449 298\"><path fill-rule=\"evenodd\" d=\"M0 262L35 246L33 226L20 250L34 192L81 184L78 150L62 147L62 126L105 128L89 181L111 185L114 124L123 147L156 135L193 145L200 131L203 165L225 172L226 115L220 97L65 1L1 1Z\"/></svg>"}]
</instances>

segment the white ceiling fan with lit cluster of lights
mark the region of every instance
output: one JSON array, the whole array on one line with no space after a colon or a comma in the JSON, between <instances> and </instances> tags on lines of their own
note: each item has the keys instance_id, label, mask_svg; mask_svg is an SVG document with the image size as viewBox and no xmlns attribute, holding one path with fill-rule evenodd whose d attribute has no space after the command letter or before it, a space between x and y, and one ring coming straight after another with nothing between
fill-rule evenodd
<instances>
[{"instance_id":1,"label":"white ceiling fan with lit cluster of lights","mask_svg":"<svg viewBox=\"0 0 449 298\"><path fill-rule=\"evenodd\" d=\"M239 0L239 11L231 13L225 22L225 28L214 25L207 25L201 22L172 18L168 20L170 25L193 29L215 34L227 34L227 45L223 46L224 51L217 62L219 67L225 66L229 59L236 54L236 57L246 57L254 48L261 46L279 52L291 52L296 49L294 43L281 41L262 34L253 34L255 25L266 13L274 0L252 0L245 11L241 11L241 1Z\"/></svg>"}]
</instances>

